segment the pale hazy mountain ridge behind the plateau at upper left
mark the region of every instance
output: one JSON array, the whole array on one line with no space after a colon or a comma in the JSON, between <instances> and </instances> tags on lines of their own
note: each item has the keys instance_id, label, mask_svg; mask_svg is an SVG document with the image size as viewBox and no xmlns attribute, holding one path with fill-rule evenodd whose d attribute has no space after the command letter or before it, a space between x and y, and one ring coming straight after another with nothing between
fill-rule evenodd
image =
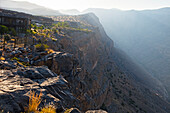
<instances>
[{"instance_id":1,"label":"pale hazy mountain ridge behind the plateau at upper left","mask_svg":"<svg viewBox=\"0 0 170 113\"><path fill-rule=\"evenodd\" d=\"M57 10L52 10L26 1L0 0L0 8L25 12L33 15L61 15Z\"/></svg>"}]
</instances>

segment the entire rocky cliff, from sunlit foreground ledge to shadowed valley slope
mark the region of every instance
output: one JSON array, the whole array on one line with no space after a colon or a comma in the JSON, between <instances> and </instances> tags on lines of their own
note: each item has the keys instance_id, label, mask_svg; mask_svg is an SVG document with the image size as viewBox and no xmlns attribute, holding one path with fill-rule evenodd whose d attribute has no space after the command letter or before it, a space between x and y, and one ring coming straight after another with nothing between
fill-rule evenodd
<instances>
[{"instance_id":1,"label":"entire rocky cliff, from sunlit foreground ledge to shadowed valley slope","mask_svg":"<svg viewBox=\"0 0 170 113\"><path fill-rule=\"evenodd\" d=\"M161 97L161 93L152 90L150 84L144 84L142 77L133 73L131 68L126 70L126 67L118 65L123 59L116 55L118 52L115 51L113 41L94 14L62 16L57 19L70 19L83 24L90 31L62 29L61 32L66 36L56 36L56 46L51 46L59 52L36 53L28 57L31 61L35 58L32 62L35 67L13 66L13 70L1 70L2 109L23 111L32 89L42 91L41 106L52 102L58 112L71 107L79 108L82 112L96 109L109 113L170 111L169 103ZM16 56L19 57L19 54ZM1 62L1 66L6 69L4 62ZM104 113L102 110L87 113Z\"/></svg>"}]
</instances>

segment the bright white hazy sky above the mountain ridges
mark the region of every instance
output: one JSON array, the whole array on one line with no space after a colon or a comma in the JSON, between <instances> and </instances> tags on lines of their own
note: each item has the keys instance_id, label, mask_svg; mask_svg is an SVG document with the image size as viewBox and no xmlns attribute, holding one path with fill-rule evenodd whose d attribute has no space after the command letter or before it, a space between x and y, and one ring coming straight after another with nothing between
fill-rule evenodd
<instances>
[{"instance_id":1,"label":"bright white hazy sky above the mountain ridges","mask_svg":"<svg viewBox=\"0 0 170 113\"><path fill-rule=\"evenodd\" d=\"M51 9L78 9L87 8L118 8L129 9L157 9L170 7L170 0L15 0L29 1Z\"/></svg>"}]
</instances>

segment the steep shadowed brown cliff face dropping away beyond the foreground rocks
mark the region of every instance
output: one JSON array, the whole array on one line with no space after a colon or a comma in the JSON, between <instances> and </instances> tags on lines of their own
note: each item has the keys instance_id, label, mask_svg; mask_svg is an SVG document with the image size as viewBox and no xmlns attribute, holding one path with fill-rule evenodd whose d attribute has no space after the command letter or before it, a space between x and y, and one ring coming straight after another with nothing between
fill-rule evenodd
<instances>
[{"instance_id":1,"label":"steep shadowed brown cliff face dropping away beyond the foreground rocks","mask_svg":"<svg viewBox=\"0 0 170 113\"><path fill-rule=\"evenodd\" d=\"M132 68L126 73L127 70L117 65L121 61L115 58L118 53L113 41L106 35L95 15L74 18L92 25L92 32L68 32L72 37L68 39L69 43L68 40L61 41L64 50L76 56L78 67L82 70L74 77L66 77L72 93L81 103L81 110L101 108L110 113L169 111L169 103L161 98L166 92L160 90L160 84L156 81L152 85L149 81L145 83L141 76L146 76L146 73L134 73L135 69ZM158 91L152 90L154 85Z\"/></svg>"}]
</instances>

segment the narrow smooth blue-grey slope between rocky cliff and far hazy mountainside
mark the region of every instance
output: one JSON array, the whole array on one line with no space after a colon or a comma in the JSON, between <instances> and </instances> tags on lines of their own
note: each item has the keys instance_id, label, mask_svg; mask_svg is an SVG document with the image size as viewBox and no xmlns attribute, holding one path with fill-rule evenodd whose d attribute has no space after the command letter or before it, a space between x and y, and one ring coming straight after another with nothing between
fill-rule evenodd
<instances>
[{"instance_id":1,"label":"narrow smooth blue-grey slope between rocky cliff and far hazy mountainside","mask_svg":"<svg viewBox=\"0 0 170 113\"><path fill-rule=\"evenodd\" d=\"M161 94L165 99L168 97L167 91L160 81L150 75L145 69L134 63L125 52L117 48L115 48L114 52L114 60L118 67L122 69L123 72L130 75L134 82L154 90L156 93Z\"/></svg>"}]
</instances>

